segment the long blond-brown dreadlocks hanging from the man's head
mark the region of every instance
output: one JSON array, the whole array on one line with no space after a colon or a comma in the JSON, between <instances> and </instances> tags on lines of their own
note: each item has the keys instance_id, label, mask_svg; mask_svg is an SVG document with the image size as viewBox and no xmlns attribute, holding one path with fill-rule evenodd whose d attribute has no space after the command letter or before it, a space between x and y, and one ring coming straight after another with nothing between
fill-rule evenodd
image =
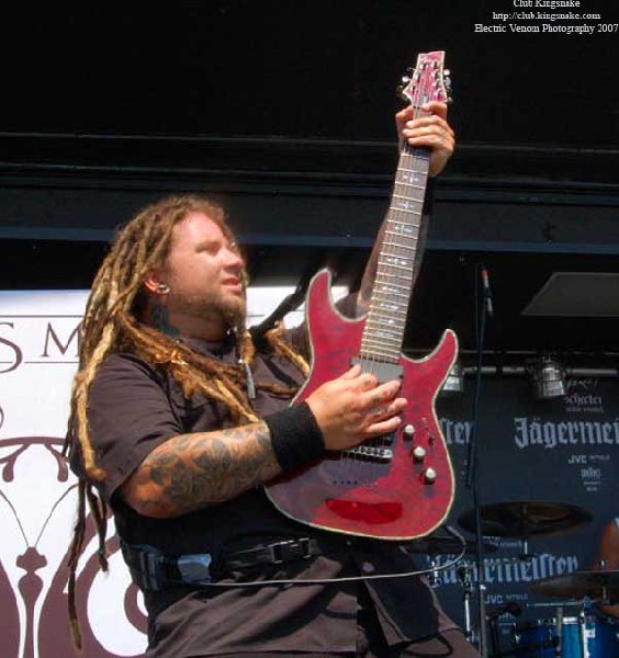
<instances>
[{"instance_id":1,"label":"long blond-brown dreadlocks hanging from the man's head","mask_svg":"<svg viewBox=\"0 0 619 658\"><path fill-rule=\"evenodd\" d=\"M78 372L74 379L69 431L64 454L79 446L85 477L78 484L78 510L69 551L69 617L77 648L81 633L75 602L76 572L86 538L87 506L99 541L101 569L108 569L105 546L108 506L95 494L93 483L102 481L105 473L98 466L89 439L87 419L90 385L104 359L115 352L130 351L161 368L182 387L185 397L196 393L221 402L239 424L255 422L258 417L246 394L246 370L203 356L189 345L166 336L140 321L146 303L143 283L148 272L161 265L169 251L172 230L189 213L202 212L215 222L229 242L234 236L223 207L212 198L187 194L164 198L140 211L116 235L113 245L94 277L80 328ZM247 274L243 274L244 285ZM240 364L250 364L256 348L245 327L235 327ZM303 374L306 361L283 340L283 327L278 325L266 337L275 354L293 362ZM257 383L257 388L292 397L294 388Z\"/></svg>"}]
</instances>

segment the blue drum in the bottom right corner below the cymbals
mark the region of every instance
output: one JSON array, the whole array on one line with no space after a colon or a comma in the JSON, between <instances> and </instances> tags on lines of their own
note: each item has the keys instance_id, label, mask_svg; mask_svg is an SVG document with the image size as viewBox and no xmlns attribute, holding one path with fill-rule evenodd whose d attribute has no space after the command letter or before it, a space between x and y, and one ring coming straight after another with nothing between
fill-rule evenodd
<instances>
[{"instance_id":1,"label":"blue drum in the bottom right corner below the cymbals","mask_svg":"<svg viewBox=\"0 0 619 658\"><path fill-rule=\"evenodd\" d=\"M556 620L528 622L516 625L514 644L514 655L522 658L619 658L619 625L590 615L563 617L559 653Z\"/></svg>"}]
</instances>

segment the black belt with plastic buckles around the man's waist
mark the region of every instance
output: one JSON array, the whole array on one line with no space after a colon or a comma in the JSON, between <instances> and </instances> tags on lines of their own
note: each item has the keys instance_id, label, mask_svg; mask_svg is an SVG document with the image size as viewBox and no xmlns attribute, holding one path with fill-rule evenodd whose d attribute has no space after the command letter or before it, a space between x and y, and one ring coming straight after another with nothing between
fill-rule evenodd
<instances>
[{"instance_id":1,"label":"black belt with plastic buckles around the man's waist","mask_svg":"<svg viewBox=\"0 0 619 658\"><path fill-rule=\"evenodd\" d=\"M341 545L340 545L341 546ZM320 544L310 537L283 540L224 555L212 569L212 556L209 553L188 555L166 555L145 544L128 545L121 543L125 561L133 581L143 590L159 591L170 586L207 585L214 582L212 570L226 572L255 565L281 565L284 563L310 559L323 554Z\"/></svg>"}]
</instances>

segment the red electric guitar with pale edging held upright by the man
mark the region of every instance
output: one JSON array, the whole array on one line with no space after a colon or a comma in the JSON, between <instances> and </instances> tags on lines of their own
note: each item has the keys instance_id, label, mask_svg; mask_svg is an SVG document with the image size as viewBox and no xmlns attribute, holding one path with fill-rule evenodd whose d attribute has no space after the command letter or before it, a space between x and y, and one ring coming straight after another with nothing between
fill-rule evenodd
<instances>
[{"instance_id":1,"label":"red electric guitar with pale edging held upright by the man","mask_svg":"<svg viewBox=\"0 0 619 658\"><path fill-rule=\"evenodd\" d=\"M402 90L417 115L425 102L448 100L443 57L442 52L419 55ZM345 534L414 540L432 532L451 508L453 470L435 399L455 361L458 341L448 329L425 359L415 361L402 354L408 300L419 265L417 243L428 163L428 149L402 147L368 314L351 320L333 307L327 270L310 284L306 321L312 372L294 401L304 400L359 363L381 382L401 377L398 395L408 399L408 406L393 434L331 452L266 486L274 506L302 523Z\"/></svg>"}]
</instances>

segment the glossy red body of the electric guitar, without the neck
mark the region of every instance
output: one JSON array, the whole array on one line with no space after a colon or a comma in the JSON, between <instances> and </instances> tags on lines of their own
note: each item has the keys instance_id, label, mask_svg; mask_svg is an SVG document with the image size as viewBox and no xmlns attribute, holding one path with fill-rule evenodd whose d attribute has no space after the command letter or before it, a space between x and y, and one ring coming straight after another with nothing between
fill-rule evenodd
<instances>
[{"instance_id":1,"label":"glossy red body of the electric guitar, without the neck","mask_svg":"<svg viewBox=\"0 0 619 658\"><path fill-rule=\"evenodd\" d=\"M312 372L293 404L357 362L365 325L364 318L350 320L334 308L326 270L310 284L306 320ZM399 429L378 442L364 442L358 453L329 453L301 472L272 480L266 491L274 506L302 523L351 535L413 540L435 530L444 521L454 494L435 399L457 352L455 334L447 330L425 359L402 355L398 395L408 399L408 406ZM436 474L432 481L428 469Z\"/></svg>"}]
</instances>

